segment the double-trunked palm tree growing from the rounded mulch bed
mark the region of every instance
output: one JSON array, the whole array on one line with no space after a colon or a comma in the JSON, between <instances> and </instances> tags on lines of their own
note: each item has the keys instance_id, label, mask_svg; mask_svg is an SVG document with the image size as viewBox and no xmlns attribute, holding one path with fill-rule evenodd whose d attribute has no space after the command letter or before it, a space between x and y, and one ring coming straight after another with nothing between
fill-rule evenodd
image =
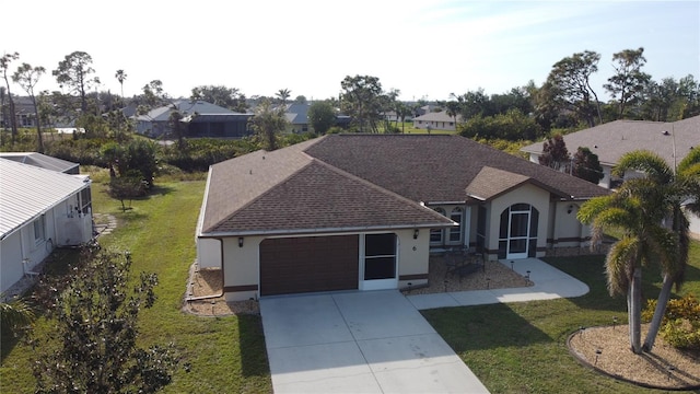
<instances>
[{"instance_id":1,"label":"double-trunked palm tree growing from the rounded mulch bed","mask_svg":"<svg viewBox=\"0 0 700 394\"><path fill-rule=\"evenodd\" d=\"M593 224L594 242L603 231L618 228L623 235L606 257L610 294L627 294L630 346L633 352L651 350L658 332L673 283L679 286L688 260L688 221L681 204L697 205L700 154L691 152L679 166L678 175L657 154L634 151L625 154L615 169L617 175L638 170L644 177L626 181L610 196L593 198L578 213L579 220ZM693 186L695 185L695 186ZM642 266L656 263L664 275L657 310L650 333L641 345ZM654 328L654 324L656 327Z\"/></svg>"}]
</instances>

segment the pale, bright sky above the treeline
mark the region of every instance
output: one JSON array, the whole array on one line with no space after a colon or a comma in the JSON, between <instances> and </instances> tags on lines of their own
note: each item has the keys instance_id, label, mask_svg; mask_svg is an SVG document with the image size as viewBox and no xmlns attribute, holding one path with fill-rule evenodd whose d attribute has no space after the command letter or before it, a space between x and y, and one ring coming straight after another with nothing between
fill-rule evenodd
<instances>
[{"instance_id":1,"label":"pale, bright sky above the treeline","mask_svg":"<svg viewBox=\"0 0 700 394\"><path fill-rule=\"evenodd\" d=\"M586 49L602 55L596 93L612 54L644 47L654 80L700 79L700 0L688 1L5 1L0 51L50 70L90 54L101 90L126 95L151 80L171 96L223 84L246 95L337 96L346 76L378 77L401 100L446 100L482 88L503 93ZM38 27L36 27L38 26ZM19 86L13 88L20 92Z\"/></svg>"}]
</instances>

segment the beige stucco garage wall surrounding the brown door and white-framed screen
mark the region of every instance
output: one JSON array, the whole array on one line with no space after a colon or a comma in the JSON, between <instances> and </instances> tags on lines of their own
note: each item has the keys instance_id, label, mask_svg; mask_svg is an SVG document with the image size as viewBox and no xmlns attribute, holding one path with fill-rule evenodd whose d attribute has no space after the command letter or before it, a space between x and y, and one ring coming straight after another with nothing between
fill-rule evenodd
<instances>
[{"instance_id":1,"label":"beige stucco garage wall surrounding the brown door and white-framed screen","mask_svg":"<svg viewBox=\"0 0 700 394\"><path fill-rule=\"evenodd\" d=\"M419 230L417 240L413 240L413 229L394 230L394 231L381 231L393 232L398 237L397 258L398 258L398 276L408 275L425 275L428 274L428 260L429 260L429 241L430 230ZM314 236L324 235L340 235L340 234L314 234ZM299 236L310 236L299 235ZM243 240L243 247L238 247L238 237L223 239L223 270L224 270L224 287L243 287L243 286L258 286L259 285L259 264L260 243L266 240L265 236L246 236ZM208 242L206 245L200 243L200 248L203 246L219 247L218 241ZM362 245L362 242L360 243ZM359 251L360 259L358 265L361 266L362 251ZM210 256L217 254L215 251L203 252ZM362 269L360 269L362 275ZM360 280L360 278L358 278ZM397 287L407 287L408 282L411 286L419 286L428 282L428 279L407 279L397 280ZM236 292L228 292L225 294L226 301L242 301L250 298L257 299L259 293L257 290L245 290Z\"/></svg>"}]
</instances>

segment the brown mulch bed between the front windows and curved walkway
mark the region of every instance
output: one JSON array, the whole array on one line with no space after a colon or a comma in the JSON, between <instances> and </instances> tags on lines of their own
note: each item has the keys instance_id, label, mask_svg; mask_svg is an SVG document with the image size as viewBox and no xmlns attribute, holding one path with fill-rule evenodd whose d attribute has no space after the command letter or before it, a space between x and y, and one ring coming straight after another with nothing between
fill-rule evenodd
<instances>
[{"instance_id":1,"label":"brown mulch bed between the front windows and curved walkway","mask_svg":"<svg viewBox=\"0 0 700 394\"><path fill-rule=\"evenodd\" d=\"M486 262L483 268L460 277L450 273L442 256L431 256L429 263L428 287L405 289L404 294L431 294L438 292L510 289L528 287L534 283L499 262Z\"/></svg>"}]
</instances>

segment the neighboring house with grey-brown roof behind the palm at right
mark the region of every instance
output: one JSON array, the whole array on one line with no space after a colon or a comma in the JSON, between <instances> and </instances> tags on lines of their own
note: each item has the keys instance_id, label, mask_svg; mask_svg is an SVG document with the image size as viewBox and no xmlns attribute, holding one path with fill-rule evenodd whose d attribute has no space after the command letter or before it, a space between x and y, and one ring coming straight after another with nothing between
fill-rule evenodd
<instances>
[{"instance_id":1,"label":"neighboring house with grey-brown roof behind the palm at right","mask_svg":"<svg viewBox=\"0 0 700 394\"><path fill-rule=\"evenodd\" d=\"M563 138L570 154L574 154L579 147L586 147L597 154L604 175L598 184L614 188L622 179L611 175L612 167L625 153L634 150L653 151L675 169L691 149L700 147L700 116L673 123L615 120ZM539 163L542 146L544 142L536 142L521 150L529 154L532 162ZM639 175L630 172L623 177Z\"/></svg>"}]
</instances>

